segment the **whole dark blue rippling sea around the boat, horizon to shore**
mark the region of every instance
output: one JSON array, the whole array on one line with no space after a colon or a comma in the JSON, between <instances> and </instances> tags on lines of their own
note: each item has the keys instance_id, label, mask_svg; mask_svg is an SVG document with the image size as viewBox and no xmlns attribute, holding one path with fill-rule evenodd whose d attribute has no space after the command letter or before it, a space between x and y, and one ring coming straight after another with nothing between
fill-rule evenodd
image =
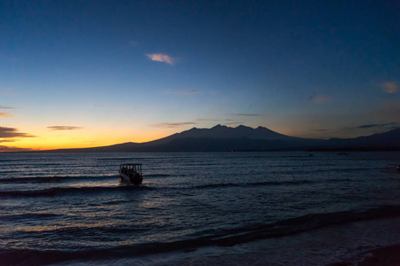
<instances>
[{"instance_id":1,"label":"whole dark blue rippling sea around the boat, horizon to shore","mask_svg":"<svg viewBox=\"0 0 400 266\"><path fill-rule=\"evenodd\" d=\"M141 163L143 184L119 182ZM0 265L334 265L400 244L399 152L0 153Z\"/></svg>"}]
</instances>

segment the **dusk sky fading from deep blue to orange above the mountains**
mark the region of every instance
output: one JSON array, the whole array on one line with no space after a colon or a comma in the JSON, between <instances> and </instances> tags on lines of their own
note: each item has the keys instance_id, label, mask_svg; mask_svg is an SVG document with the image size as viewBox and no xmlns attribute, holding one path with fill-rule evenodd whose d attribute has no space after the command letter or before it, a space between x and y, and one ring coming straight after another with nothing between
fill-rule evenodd
<instances>
[{"instance_id":1,"label":"dusk sky fading from deep blue to orange above the mountains","mask_svg":"<svg viewBox=\"0 0 400 266\"><path fill-rule=\"evenodd\" d=\"M394 1L0 0L0 152L400 127Z\"/></svg>"}]
</instances>

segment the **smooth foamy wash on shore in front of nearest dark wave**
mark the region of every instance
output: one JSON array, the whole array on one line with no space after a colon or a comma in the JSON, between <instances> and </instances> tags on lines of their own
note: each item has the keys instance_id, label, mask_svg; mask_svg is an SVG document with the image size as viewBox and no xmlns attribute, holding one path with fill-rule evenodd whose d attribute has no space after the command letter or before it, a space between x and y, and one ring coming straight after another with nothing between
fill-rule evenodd
<instances>
[{"instance_id":1,"label":"smooth foamy wash on shore in front of nearest dark wave","mask_svg":"<svg viewBox=\"0 0 400 266\"><path fill-rule=\"evenodd\" d=\"M135 258L74 262L74 265L356 265L380 246L400 243L400 219L348 223L279 239L236 246L208 246L192 252L152 254ZM349 261L353 258L353 261ZM356 260L354 260L356 258ZM67 265L71 262L61 263Z\"/></svg>"}]
</instances>

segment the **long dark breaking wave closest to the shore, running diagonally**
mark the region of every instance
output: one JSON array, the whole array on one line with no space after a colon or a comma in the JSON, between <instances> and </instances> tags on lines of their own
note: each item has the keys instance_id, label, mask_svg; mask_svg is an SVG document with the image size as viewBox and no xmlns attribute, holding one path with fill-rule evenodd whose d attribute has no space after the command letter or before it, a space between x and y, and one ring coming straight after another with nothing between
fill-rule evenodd
<instances>
[{"instance_id":1,"label":"long dark breaking wave closest to the shore, running diagonally","mask_svg":"<svg viewBox=\"0 0 400 266\"><path fill-rule=\"evenodd\" d=\"M400 205L380 206L364 211L340 211L309 214L276 223L259 224L219 231L212 235L171 242L152 242L135 245L76 251L0 249L1 265L42 265L72 260L102 260L124 256L161 254L172 251L192 251L203 246L235 246L260 239L276 239L323 227L373 219L400 216Z\"/></svg>"}]
</instances>

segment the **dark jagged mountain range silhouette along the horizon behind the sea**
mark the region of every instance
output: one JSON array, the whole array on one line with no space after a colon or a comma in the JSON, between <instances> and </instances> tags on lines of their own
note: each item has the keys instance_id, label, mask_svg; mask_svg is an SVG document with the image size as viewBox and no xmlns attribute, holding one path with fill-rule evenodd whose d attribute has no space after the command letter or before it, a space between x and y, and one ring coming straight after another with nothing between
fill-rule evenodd
<instances>
[{"instance_id":1,"label":"dark jagged mountain range silhouette along the horizon behind the sea","mask_svg":"<svg viewBox=\"0 0 400 266\"><path fill-rule=\"evenodd\" d=\"M400 149L400 128L368 137L329 140L290 137L273 130L216 125L211 129L188 129L146 143L124 143L80 149L59 149L47 153L146 153L146 152L228 152L295 150Z\"/></svg>"}]
</instances>

